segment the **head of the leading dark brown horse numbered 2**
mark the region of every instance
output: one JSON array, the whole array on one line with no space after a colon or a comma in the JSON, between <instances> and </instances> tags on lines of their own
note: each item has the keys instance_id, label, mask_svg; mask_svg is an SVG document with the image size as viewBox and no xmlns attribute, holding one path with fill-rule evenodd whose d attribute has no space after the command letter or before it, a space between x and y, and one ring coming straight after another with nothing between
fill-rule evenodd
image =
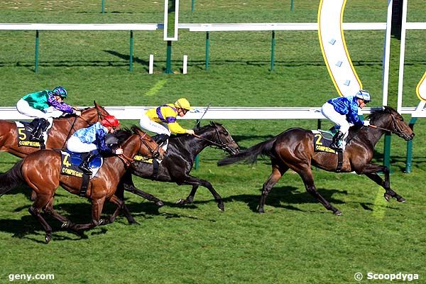
<instances>
[{"instance_id":1,"label":"head of the leading dark brown horse numbered 2","mask_svg":"<svg viewBox=\"0 0 426 284\"><path fill-rule=\"evenodd\" d=\"M409 141L414 137L413 129L405 123L403 116L391 107L373 111L368 118L370 119L370 124L391 131L404 138L405 141Z\"/></svg>"}]
</instances>

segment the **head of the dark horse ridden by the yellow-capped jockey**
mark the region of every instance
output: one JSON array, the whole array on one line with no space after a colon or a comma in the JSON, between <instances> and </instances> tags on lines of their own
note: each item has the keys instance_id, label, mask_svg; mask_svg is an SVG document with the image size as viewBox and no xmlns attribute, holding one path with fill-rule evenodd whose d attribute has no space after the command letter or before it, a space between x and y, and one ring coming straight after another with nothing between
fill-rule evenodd
<instances>
[{"instance_id":1,"label":"head of the dark horse ridden by the yellow-capped jockey","mask_svg":"<svg viewBox=\"0 0 426 284\"><path fill-rule=\"evenodd\" d=\"M205 138L207 138L208 135L209 142L211 143L209 146L221 148L231 155L235 155L239 152L238 144L222 124L211 121L208 126L204 126L202 129L207 129L207 131L205 131L206 134L202 136L206 136Z\"/></svg>"}]
</instances>

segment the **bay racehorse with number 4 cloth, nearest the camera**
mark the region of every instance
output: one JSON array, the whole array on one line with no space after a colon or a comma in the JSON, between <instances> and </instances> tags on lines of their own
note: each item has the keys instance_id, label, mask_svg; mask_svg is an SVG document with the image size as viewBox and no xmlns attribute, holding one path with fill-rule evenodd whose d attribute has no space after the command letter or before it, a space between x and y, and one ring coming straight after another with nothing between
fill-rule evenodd
<instances>
[{"instance_id":1,"label":"bay racehorse with number 4 cloth, nearest the camera","mask_svg":"<svg viewBox=\"0 0 426 284\"><path fill-rule=\"evenodd\" d=\"M92 222L90 223L73 224L53 209L54 195L59 185L77 195L82 183L81 178L60 174L60 151L40 150L27 155L26 158L16 163L11 170L0 175L0 195L12 190L21 182L25 182L36 192L35 201L28 211L43 226L46 243L52 237L52 228L40 214L41 210L62 222L62 227L73 230L90 229L94 226L112 223L124 206L124 202L117 198L114 192L133 156L136 153L148 157L158 157L159 155L158 145L151 136L136 127L133 127L133 131L134 134L129 131L128 138L120 143L124 153L104 158L104 165L89 182L85 196L92 202ZM116 204L117 208L111 217L101 219L105 200Z\"/></svg>"}]
</instances>

